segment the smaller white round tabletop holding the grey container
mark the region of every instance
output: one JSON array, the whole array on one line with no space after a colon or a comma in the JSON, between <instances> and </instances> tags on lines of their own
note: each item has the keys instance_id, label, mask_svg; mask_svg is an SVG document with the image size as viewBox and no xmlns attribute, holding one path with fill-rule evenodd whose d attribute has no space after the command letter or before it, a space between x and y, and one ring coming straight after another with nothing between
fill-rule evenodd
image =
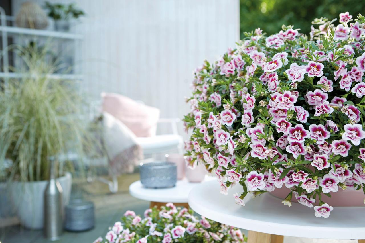
<instances>
[{"instance_id":1,"label":"smaller white round tabletop holding the grey container","mask_svg":"<svg viewBox=\"0 0 365 243\"><path fill-rule=\"evenodd\" d=\"M212 180L212 177L205 177L205 181ZM145 188L141 181L135 181L129 186L129 192L133 197L153 202L188 202L190 190L200 183L191 183L186 179L178 180L171 188Z\"/></svg>"}]
</instances>

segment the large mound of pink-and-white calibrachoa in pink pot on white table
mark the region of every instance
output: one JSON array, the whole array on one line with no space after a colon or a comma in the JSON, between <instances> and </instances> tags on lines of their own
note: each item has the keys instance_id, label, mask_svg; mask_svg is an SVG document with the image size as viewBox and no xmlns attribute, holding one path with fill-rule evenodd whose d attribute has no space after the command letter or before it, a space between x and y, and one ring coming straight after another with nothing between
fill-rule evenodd
<instances>
[{"instance_id":1,"label":"large mound of pink-and-white calibrachoa in pink pot on white table","mask_svg":"<svg viewBox=\"0 0 365 243\"><path fill-rule=\"evenodd\" d=\"M214 172L223 193L241 185L238 204L271 192L317 217L364 206L365 17L334 22L315 19L309 38L257 28L195 70L187 160Z\"/></svg>"}]
</instances>

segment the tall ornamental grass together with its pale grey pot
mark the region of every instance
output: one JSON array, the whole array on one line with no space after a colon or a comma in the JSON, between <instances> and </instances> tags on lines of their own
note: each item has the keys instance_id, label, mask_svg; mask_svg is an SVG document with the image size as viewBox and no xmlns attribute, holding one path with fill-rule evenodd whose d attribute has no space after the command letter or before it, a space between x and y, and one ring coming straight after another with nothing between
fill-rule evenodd
<instances>
[{"instance_id":1,"label":"tall ornamental grass together with its pale grey pot","mask_svg":"<svg viewBox=\"0 0 365 243\"><path fill-rule=\"evenodd\" d=\"M76 162L81 165L88 146L76 81L53 78L57 67L40 55L20 56L28 65L22 78L10 79L0 89L0 168L12 161L6 178L12 205L20 223L33 229L43 227L43 193L50 164L57 167L63 203L68 204L72 177L67 171L74 167L65 157L70 151L77 153Z\"/></svg>"}]
</instances>

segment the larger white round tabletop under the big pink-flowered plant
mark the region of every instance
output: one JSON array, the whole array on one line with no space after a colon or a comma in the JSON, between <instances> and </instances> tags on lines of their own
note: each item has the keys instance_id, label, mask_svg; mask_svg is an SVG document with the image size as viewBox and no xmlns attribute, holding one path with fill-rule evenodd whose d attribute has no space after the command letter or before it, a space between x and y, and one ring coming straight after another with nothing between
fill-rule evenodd
<instances>
[{"instance_id":1,"label":"larger white round tabletop under the big pink-flowered plant","mask_svg":"<svg viewBox=\"0 0 365 243\"><path fill-rule=\"evenodd\" d=\"M233 194L243 192L234 186L225 196L217 181L195 186L189 194L189 206L200 215L219 223L267 234L317 239L365 239L365 207L335 207L325 219L314 216L313 208L268 193L248 201L245 207L235 203Z\"/></svg>"}]
</instances>

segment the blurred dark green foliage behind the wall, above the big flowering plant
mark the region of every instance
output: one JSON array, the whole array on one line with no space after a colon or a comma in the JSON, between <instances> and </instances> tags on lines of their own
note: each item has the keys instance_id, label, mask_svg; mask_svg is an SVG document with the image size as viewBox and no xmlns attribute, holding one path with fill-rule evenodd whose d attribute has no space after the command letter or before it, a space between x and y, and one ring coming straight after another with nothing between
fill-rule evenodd
<instances>
[{"instance_id":1,"label":"blurred dark green foliage behind the wall, above the big flowering plant","mask_svg":"<svg viewBox=\"0 0 365 243\"><path fill-rule=\"evenodd\" d=\"M301 33L309 34L311 20L320 17L338 18L342 12L353 16L365 12L365 1L359 0L240 0L241 38L243 32L260 27L268 35L293 25Z\"/></svg>"}]
</instances>

